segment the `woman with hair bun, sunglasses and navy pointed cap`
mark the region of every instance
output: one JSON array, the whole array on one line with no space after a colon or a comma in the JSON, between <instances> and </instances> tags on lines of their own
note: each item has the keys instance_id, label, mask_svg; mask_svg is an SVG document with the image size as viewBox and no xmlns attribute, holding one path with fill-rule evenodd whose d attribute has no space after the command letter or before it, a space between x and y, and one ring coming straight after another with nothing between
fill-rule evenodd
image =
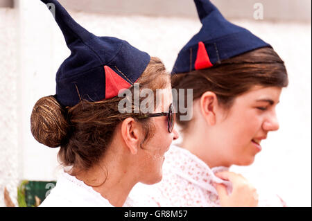
<instances>
[{"instance_id":1,"label":"woman with hair bun, sunglasses and navy pointed cap","mask_svg":"<svg viewBox=\"0 0 312 221\"><path fill-rule=\"evenodd\" d=\"M38 100L31 114L33 136L60 147L64 166L41 206L123 206L137 182L162 179L164 153L177 139L170 74L128 42L89 33L58 1L42 2L55 5L71 55L56 74L55 96ZM153 96L137 100L136 85ZM146 99L148 111L138 109Z\"/></svg>"}]
</instances>

